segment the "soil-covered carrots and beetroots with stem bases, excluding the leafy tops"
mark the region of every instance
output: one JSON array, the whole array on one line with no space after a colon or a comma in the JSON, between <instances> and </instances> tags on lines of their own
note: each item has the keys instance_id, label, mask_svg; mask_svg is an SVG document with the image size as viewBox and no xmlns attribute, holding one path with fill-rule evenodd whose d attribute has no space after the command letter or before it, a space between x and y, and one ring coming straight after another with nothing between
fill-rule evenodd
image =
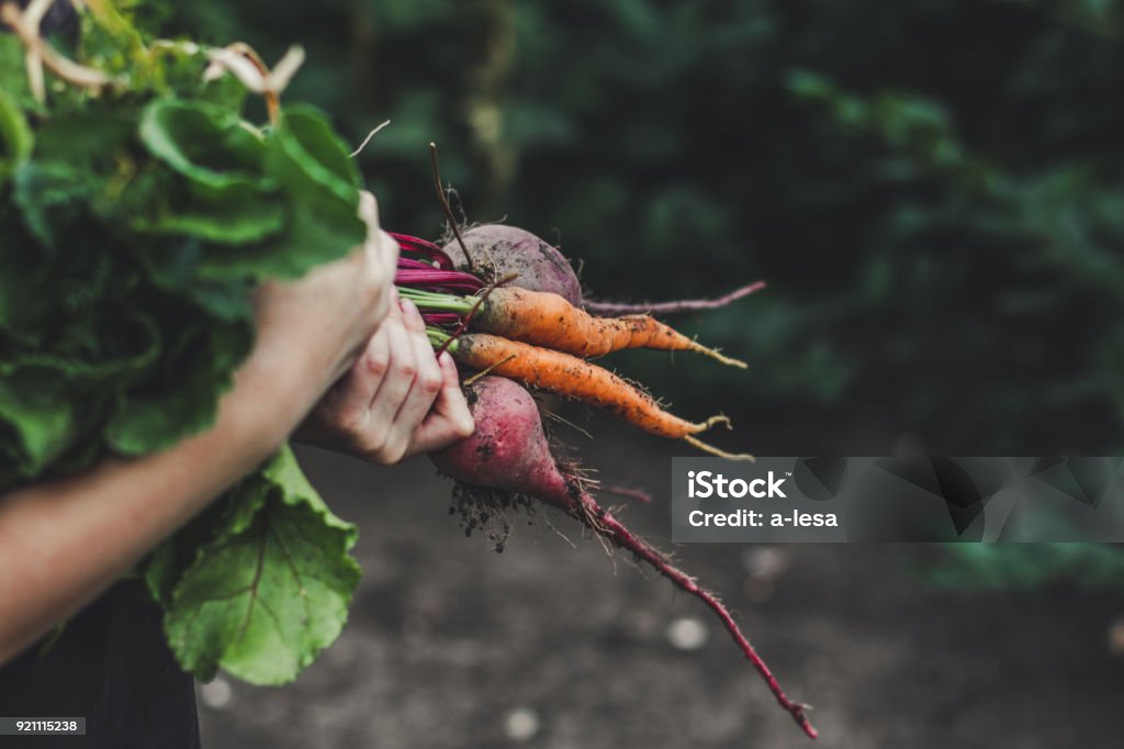
<instances>
[{"instance_id":1,"label":"soil-covered carrots and beetroots with stem bases, excluding the leafy tops","mask_svg":"<svg viewBox=\"0 0 1124 749\"><path fill-rule=\"evenodd\" d=\"M441 191L439 180L437 184ZM452 217L450 225L454 238L444 247L395 235L402 247L396 283L422 310L434 346L450 351L468 376L464 382L475 433L432 455L438 470L457 482L454 511L461 509L466 530L487 526L498 516L501 530L493 538L501 551L507 532L505 509L533 506L535 500L561 509L609 547L651 565L703 601L781 706L814 738L805 705L788 698L728 610L602 507L592 494L596 482L579 466L555 458L538 404L527 389L605 408L651 434L681 439L706 452L752 460L717 450L695 436L727 423L724 416L698 423L674 416L637 386L587 358L647 348L696 352L735 367L745 364L644 314L649 308L643 305L600 303L592 307L592 313L628 313L617 317L584 310L581 285L570 263L529 232L483 225L462 234ZM664 303L661 307L671 313L722 306L758 288L760 285L744 287L713 301Z\"/></svg>"}]
</instances>

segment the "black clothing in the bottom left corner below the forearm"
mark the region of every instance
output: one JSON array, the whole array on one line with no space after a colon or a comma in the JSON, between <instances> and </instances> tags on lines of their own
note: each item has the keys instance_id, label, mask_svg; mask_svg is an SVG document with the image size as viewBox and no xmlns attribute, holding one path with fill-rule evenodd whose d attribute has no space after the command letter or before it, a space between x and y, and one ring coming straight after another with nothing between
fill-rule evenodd
<instances>
[{"instance_id":1,"label":"black clothing in the bottom left corner below the forearm","mask_svg":"<svg viewBox=\"0 0 1124 749\"><path fill-rule=\"evenodd\" d=\"M199 749L194 680L160 620L138 580L119 583L44 656L36 644L0 668L0 716L87 719L85 737L0 737L0 747Z\"/></svg>"}]
</instances>

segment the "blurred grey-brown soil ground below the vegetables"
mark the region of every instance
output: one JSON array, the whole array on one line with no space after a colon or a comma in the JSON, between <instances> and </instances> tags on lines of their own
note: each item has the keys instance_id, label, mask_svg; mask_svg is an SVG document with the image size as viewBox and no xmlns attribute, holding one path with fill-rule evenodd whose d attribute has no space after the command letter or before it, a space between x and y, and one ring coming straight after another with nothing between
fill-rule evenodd
<instances>
[{"instance_id":1,"label":"blurred grey-brown soil ground below the vegetables","mask_svg":"<svg viewBox=\"0 0 1124 749\"><path fill-rule=\"evenodd\" d=\"M670 548L676 445L597 445L602 479L654 494L625 520ZM813 746L699 602L566 518L553 521L577 548L538 518L497 554L464 538L425 460L301 460L361 526L352 620L289 686L202 687L206 749ZM824 748L1124 746L1124 658L1108 649L1120 594L937 589L917 577L936 552L913 545L677 553L815 705Z\"/></svg>"}]
</instances>

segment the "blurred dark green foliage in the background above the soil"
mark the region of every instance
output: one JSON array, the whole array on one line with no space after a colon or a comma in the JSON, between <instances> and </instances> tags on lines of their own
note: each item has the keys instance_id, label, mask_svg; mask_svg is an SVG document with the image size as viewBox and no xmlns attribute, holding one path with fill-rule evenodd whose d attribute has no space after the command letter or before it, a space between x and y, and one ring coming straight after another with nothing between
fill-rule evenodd
<instances>
[{"instance_id":1,"label":"blurred dark green foliage in the background above the soil","mask_svg":"<svg viewBox=\"0 0 1124 749\"><path fill-rule=\"evenodd\" d=\"M152 12L152 11L149 11ZM1118 0L198 0L165 31L308 63L383 223L559 241L598 298L751 361L622 367L760 452L1124 446Z\"/></svg>"}]
</instances>

